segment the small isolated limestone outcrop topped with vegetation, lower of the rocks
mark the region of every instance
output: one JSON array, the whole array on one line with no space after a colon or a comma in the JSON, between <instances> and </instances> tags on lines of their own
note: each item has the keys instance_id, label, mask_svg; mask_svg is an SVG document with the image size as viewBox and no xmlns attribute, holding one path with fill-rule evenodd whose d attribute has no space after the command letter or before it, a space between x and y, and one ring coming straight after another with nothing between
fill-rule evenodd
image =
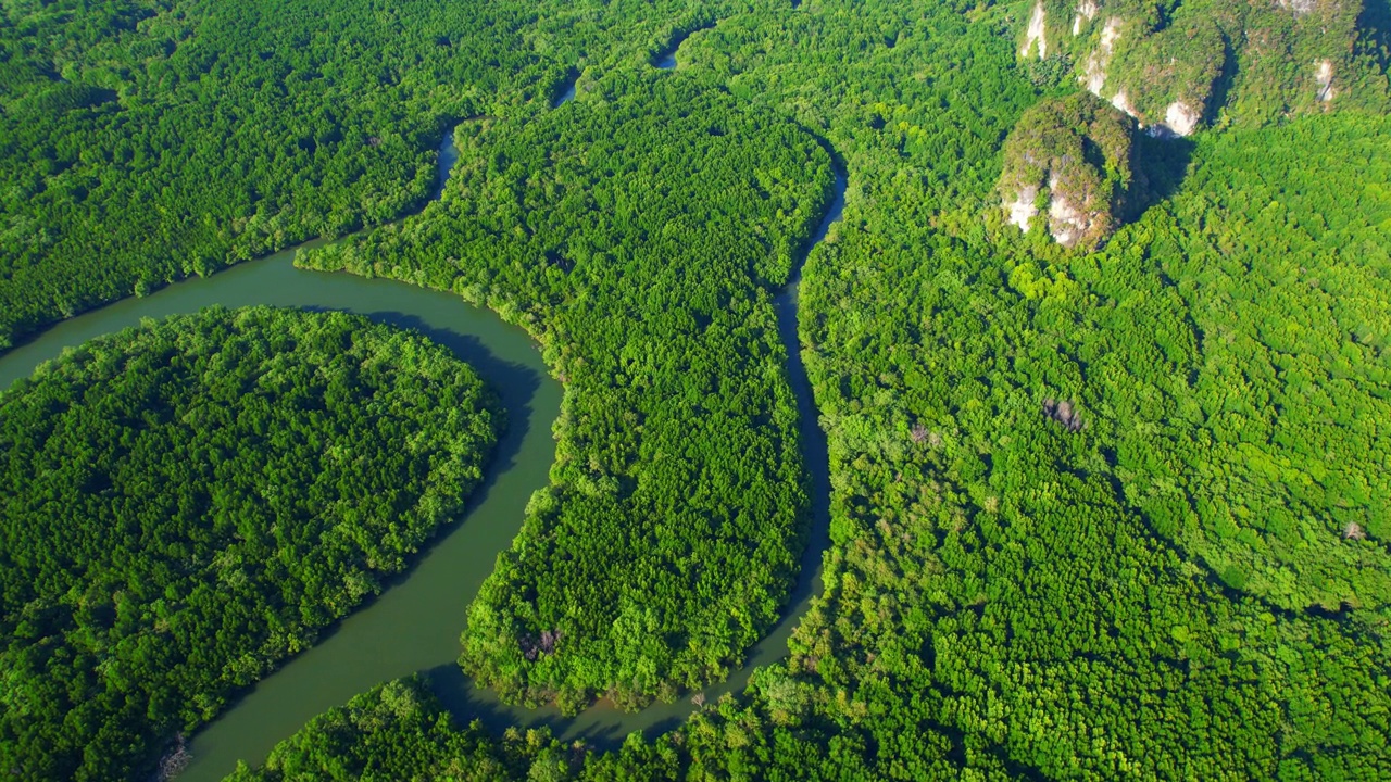
<instances>
[{"instance_id":1,"label":"small isolated limestone outcrop topped with vegetation, lower of the rocks","mask_svg":"<svg viewBox=\"0 0 1391 782\"><path fill-rule=\"evenodd\" d=\"M1004 139L999 189L1010 221L1028 231L1042 212L1060 245L1095 248L1116 228L1131 184L1132 129L1086 93L1025 111Z\"/></svg>"}]
</instances>

